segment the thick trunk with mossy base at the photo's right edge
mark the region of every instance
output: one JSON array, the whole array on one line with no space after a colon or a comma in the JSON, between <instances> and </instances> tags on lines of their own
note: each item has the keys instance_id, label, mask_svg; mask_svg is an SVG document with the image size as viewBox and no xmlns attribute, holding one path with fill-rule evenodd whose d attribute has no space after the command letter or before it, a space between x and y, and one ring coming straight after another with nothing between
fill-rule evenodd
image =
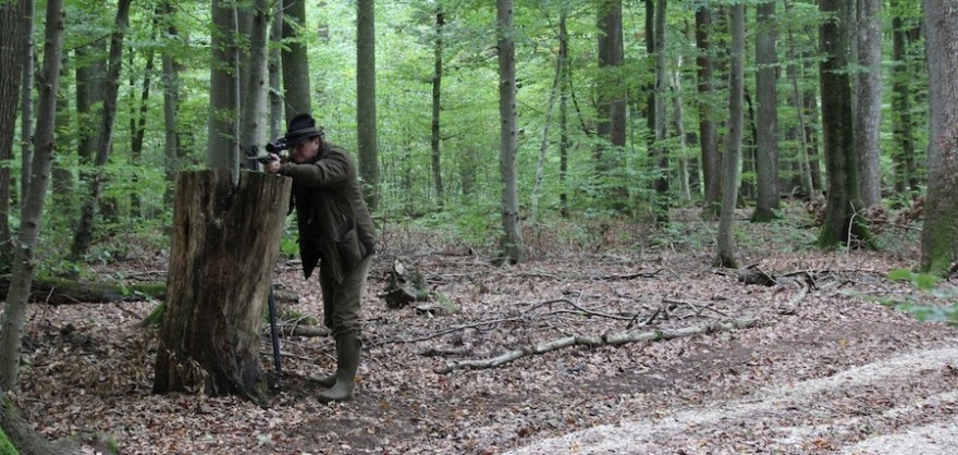
<instances>
[{"instance_id":1,"label":"thick trunk with mossy base at the photo's right edge","mask_svg":"<svg viewBox=\"0 0 958 455\"><path fill-rule=\"evenodd\" d=\"M958 272L958 9L924 2L929 67L929 189L921 232L922 270Z\"/></svg>"}]
</instances>

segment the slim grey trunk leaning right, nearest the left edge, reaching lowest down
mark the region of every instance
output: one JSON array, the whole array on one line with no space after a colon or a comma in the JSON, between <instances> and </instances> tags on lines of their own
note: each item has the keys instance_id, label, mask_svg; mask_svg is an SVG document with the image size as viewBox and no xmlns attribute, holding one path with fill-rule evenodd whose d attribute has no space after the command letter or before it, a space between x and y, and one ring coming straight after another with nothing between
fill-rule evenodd
<instances>
[{"instance_id":1,"label":"slim grey trunk leaning right, nearest the left edge, reaching lowest down","mask_svg":"<svg viewBox=\"0 0 958 455\"><path fill-rule=\"evenodd\" d=\"M20 351L26 304L35 266L34 253L42 225L47 182L53 160L57 126L57 94L60 85L60 52L63 48L63 2L47 1L44 42L44 70L40 74L37 111L36 152L29 190L21 205L21 228L14 250L13 274L7 292L7 305L0 319L0 389L16 390ZM15 72L20 74L20 72Z\"/></svg>"}]
</instances>

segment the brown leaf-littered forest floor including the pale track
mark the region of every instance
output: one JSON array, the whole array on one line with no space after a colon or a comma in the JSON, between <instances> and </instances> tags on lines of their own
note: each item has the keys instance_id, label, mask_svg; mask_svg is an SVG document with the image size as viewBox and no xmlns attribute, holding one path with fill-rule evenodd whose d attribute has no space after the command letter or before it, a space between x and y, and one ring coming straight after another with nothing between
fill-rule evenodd
<instances>
[{"instance_id":1,"label":"brown leaf-littered forest floor including the pale track","mask_svg":"<svg viewBox=\"0 0 958 455\"><path fill-rule=\"evenodd\" d=\"M958 333L861 298L912 294L887 274L916 267L917 245L820 251L813 232L785 224L736 224L741 262L776 279L765 284L711 267L713 246L695 238L714 228L692 218L673 233L684 242L623 248L649 233L619 232L604 253L530 234L533 258L511 267L388 230L364 303L357 395L331 405L308 380L334 368L328 337L284 339L277 377L263 336L267 407L159 396L156 334L137 325L157 302L36 304L14 398L50 438L108 434L123 454L955 453ZM423 274L432 302L386 308L395 260ZM165 265L110 267L163 280ZM299 297L286 319L321 317L318 284L297 263L275 279ZM646 339L602 337L616 334ZM591 339L456 368L568 336Z\"/></svg>"}]
</instances>

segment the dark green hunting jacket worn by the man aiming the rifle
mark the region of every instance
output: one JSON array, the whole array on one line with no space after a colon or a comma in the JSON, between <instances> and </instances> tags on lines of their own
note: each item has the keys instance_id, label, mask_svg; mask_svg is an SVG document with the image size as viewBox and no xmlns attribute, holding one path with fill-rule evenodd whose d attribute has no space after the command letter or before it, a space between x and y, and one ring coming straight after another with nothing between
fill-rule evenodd
<instances>
[{"instance_id":1,"label":"dark green hunting jacket worn by the man aiming the rifle","mask_svg":"<svg viewBox=\"0 0 958 455\"><path fill-rule=\"evenodd\" d=\"M330 268L341 283L343 274L377 247L353 159L346 150L322 142L316 160L283 163L280 174L293 177L303 273L308 279L321 260L321 267Z\"/></svg>"}]
</instances>

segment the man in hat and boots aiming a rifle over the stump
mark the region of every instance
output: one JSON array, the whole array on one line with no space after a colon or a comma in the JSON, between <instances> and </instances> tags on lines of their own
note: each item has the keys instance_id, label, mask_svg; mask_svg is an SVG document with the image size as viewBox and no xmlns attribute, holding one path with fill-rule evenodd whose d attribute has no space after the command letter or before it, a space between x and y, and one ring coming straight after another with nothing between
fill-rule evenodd
<instances>
[{"instance_id":1,"label":"man in hat and boots aiming a rifle over the stump","mask_svg":"<svg viewBox=\"0 0 958 455\"><path fill-rule=\"evenodd\" d=\"M359 303L366 287L369 260L376 250L376 231L353 159L323 140L309 114L290 121L285 134L290 157L268 162L266 171L293 177L293 205L299 228L299 254L306 279L319 263L323 324L336 341L336 372L321 379L330 388L321 402L353 397L361 348Z\"/></svg>"}]
</instances>

